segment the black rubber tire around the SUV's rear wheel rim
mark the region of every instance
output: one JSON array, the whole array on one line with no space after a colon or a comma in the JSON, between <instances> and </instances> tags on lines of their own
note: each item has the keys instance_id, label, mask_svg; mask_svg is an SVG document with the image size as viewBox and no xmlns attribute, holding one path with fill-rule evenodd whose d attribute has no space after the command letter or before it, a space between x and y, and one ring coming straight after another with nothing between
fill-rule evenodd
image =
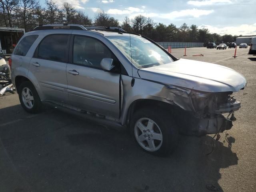
<instances>
[{"instance_id":1,"label":"black rubber tire around the SUV's rear wheel rim","mask_svg":"<svg viewBox=\"0 0 256 192\"><path fill-rule=\"evenodd\" d=\"M32 96L34 98L34 102L33 102L33 107L32 108L28 108L26 107L26 105L24 104L23 100L22 100L22 90L24 88L29 88ZM20 104L22 106L22 108L29 113L39 113L42 109L42 102L40 100L40 97L38 96L38 93L36 91L36 88L34 87L34 85L32 84L32 82L30 81L24 81L20 84L19 88L18 88L18 94L19 94L19 99L20 99Z\"/></svg>"}]
</instances>

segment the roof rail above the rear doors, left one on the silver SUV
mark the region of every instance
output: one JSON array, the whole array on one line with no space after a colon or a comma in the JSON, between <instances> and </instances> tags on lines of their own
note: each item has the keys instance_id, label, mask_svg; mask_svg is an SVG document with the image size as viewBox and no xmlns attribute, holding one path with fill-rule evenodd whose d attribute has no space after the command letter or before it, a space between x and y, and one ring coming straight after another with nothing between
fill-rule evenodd
<instances>
[{"instance_id":1,"label":"roof rail above the rear doors, left one on the silver SUV","mask_svg":"<svg viewBox=\"0 0 256 192\"><path fill-rule=\"evenodd\" d=\"M72 30L87 30L84 26L78 24L46 24L36 26L32 31L50 30L50 29L72 29Z\"/></svg>"}]
</instances>

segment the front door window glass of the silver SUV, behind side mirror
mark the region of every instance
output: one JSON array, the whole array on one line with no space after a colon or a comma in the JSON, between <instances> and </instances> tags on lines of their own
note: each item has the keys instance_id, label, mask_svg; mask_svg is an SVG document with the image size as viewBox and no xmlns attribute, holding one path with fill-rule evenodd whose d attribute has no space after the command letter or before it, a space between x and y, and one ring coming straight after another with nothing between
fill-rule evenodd
<instances>
[{"instance_id":1,"label":"front door window glass of the silver SUV, behind side mirror","mask_svg":"<svg viewBox=\"0 0 256 192\"><path fill-rule=\"evenodd\" d=\"M102 42L86 36L74 36L74 64L101 68L100 62L103 58L114 59L114 56Z\"/></svg>"}]
</instances>

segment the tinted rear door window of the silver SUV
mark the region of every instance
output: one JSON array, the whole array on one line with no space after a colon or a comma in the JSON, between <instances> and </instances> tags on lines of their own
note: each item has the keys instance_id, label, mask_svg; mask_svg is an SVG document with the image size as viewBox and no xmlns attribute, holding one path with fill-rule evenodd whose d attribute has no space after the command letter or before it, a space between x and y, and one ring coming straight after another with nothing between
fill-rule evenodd
<instances>
[{"instance_id":1,"label":"tinted rear door window of the silver SUV","mask_svg":"<svg viewBox=\"0 0 256 192\"><path fill-rule=\"evenodd\" d=\"M44 38L38 46L38 58L67 62L68 36L66 34L50 35Z\"/></svg>"}]
</instances>

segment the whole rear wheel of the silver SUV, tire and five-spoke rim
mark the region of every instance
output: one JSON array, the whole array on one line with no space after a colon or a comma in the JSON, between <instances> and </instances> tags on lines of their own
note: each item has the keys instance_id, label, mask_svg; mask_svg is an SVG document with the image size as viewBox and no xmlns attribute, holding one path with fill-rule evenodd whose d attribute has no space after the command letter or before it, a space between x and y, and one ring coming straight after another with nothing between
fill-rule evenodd
<instances>
[{"instance_id":1,"label":"whole rear wheel of the silver SUV, tire and five-spoke rim","mask_svg":"<svg viewBox=\"0 0 256 192\"><path fill-rule=\"evenodd\" d=\"M34 85L30 81L24 81L18 89L20 104L29 113L38 113L42 103L36 92Z\"/></svg>"}]
</instances>

